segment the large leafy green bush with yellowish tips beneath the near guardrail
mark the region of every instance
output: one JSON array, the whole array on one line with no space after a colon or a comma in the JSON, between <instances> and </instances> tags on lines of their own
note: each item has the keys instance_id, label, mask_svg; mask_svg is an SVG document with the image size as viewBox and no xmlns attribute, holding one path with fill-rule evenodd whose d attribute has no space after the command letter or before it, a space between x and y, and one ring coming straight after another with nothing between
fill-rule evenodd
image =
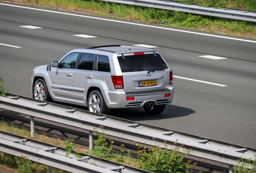
<instances>
[{"instance_id":1,"label":"large leafy green bush with yellowish tips beneath the near guardrail","mask_svg":"<svg viewBox=\"0 0 256 173\"><path fill-rule=\"evenodd\" d=\"M150 149L140 147L138 144L138 162L140 169L151 171L154 173L186 173L189 171L192 160L184 162L186 155L190 150L184 150L185 153L180 153L180 147L175 147L173 151L159 146L151 146Z\"/></svg>"}]
</instances>

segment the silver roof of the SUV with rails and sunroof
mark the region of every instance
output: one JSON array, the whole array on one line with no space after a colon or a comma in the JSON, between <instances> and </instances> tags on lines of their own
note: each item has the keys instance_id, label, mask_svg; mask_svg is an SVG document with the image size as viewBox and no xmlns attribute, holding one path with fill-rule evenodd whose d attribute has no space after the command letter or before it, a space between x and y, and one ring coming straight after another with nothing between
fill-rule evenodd
<instances>
[{"instance_id":1,"label":"silver roof of the SUV with rails and sunroof","mask_svg":"<svg viewBox=\"0 0 256 173\"><path fill-rule=\"evenodd\" d=\"M88 48L85 48L85 49L88 49ZM102 51L114 52L114 53L157 51L156 49L152 49L152 48L145 48L140 46L125 46L125 45L97 46L97 47L91 47L89 49L96 49L96 50L102 50Z\"/></svg>"}]
</instances>

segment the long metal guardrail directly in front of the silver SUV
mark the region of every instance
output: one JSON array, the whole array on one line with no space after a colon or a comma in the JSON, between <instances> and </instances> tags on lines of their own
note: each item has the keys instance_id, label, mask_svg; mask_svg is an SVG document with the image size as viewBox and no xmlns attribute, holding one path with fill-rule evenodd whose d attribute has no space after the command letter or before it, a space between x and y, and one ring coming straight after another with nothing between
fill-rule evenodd
<instances>
[{"instance_id":1,"label":"long metal guardrail directly in front of the silver SUV","mask_svg":"<svg viewBox=\"0 0 256 173\"><path fill-rule=\"evenodd\" d=\"M68 110L57 106L53 108L52 103L12 96L14 97L9 97L9 99L0 97L0 109L31 116L31 127L33 127L33 117L37 117L91 132L98 131L112 137L136 141L146 145L158 145L165 148L164 141L166 141L166 146L169 150L173 150L176 146L180 147L181 153L191 149L189 155L230 165L230 173L233 171L233 165L237 165L238 159L242 157L254 160L254 155L256 154L256 149L249 147L143 125L88 111ZM33 129L31 129L31 135L33 135ZM90 143L92 144L92 141Z\"/></svg>"}]
</instances>

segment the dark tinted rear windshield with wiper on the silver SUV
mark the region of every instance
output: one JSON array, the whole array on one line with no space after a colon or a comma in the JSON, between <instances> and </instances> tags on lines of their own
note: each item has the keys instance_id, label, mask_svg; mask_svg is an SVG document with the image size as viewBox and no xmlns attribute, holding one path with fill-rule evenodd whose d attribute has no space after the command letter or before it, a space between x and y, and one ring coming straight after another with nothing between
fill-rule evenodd
<instances>
[{"instance_id":1,"label":"dark tinted rear windshield with wiper on the silver SUV","mask_svg":"<svg viewBox=\"0 0 256 173\"><path fill-rule=\"evenodd\" d=\"M122 72L136 72L168 68L165 61L158 53L118 56L118 61Z\"/></svg>"}]
</instances>

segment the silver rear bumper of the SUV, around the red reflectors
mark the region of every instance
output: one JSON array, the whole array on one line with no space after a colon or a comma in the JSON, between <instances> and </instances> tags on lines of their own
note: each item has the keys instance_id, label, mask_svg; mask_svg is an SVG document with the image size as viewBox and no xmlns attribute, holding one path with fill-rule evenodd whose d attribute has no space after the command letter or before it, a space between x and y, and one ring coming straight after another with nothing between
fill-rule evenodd
<instances>
[{"instance_id":1,"label":"silver rear bumper of the SUV, around the red reflectors","mask_svg":"<svg viewBox=\"0 0 256 173\"><path fill-rule=\"evenodd\" d=\"M165 94L171 94L170 97L164 97ZM109 98L105 99L106 104L111 109L120 109L125 107L141 107L147 102L154 102L155 105L169 104L173 100L174 87L169 89L158 90L158 91L147 91L147 92L134 92L125 93L108 91L106 95ZM134 101L127 101L126 97L134 97Z\"/></svg>"}]
</instances>

